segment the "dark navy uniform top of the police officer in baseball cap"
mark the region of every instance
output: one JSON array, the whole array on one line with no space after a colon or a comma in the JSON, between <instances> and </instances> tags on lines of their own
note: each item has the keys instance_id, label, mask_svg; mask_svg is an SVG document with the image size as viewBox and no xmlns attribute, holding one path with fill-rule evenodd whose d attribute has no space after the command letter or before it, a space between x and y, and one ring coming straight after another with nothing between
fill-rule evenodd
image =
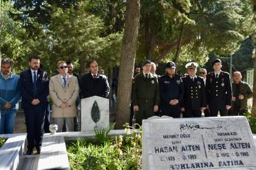
<instances>
[{"instance_id":1,"label":"dark navy uniform top of the police officer in baseball cap","mask_svg":"<svg viewBox=\"0 0 256 170\"><path fill-rule=\"evenodd\" d=\"M178 99L179 103L182 101L184 86L182 79L177 74L174 74L172 79L168 74L161 76L159 87L162 105L168 105L172 99Z\"/></svg>"}]
</instances>

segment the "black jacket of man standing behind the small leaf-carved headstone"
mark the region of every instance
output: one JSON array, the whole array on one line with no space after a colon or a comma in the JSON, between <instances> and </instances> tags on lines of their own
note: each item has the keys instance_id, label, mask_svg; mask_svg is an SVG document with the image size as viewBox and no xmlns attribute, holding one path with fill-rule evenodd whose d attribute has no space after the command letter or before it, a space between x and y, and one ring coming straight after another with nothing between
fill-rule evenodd
<instances>
[{"instance_id":1,"label":"black jacket of man standing behind the small leaf-carved headstone","mask_svg":"<svg viewBox=\"0 0 256 170\"><path fill-rule=\"evenodd\" d=\"M81 93L83 98L90 98L91 96L105 98L108 96L109 90L107 77L102 74L98 73L96 80L91 76L91 72L82 77Z\"/></svg>"}]
</instances>

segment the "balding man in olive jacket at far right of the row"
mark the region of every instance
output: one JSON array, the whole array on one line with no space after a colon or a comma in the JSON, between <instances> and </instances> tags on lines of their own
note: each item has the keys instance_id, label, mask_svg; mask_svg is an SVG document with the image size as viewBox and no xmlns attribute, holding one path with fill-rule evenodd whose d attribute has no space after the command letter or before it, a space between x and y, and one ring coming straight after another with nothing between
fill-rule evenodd
<instances>
[{"instance_id":1,"label":"balding man in olive jacket at far right of the row","mask_svg":"<svg viewBox=\"0 0 256 170\"><path fill-rule=\"evenodd\" d=\"M241 72L234 72L233 74L233 97L232 107L228 110L228 116L244 116L247 112L247 100L252 98L252 88L247 82L241 81Z\"/></svg>"}]
</instances>

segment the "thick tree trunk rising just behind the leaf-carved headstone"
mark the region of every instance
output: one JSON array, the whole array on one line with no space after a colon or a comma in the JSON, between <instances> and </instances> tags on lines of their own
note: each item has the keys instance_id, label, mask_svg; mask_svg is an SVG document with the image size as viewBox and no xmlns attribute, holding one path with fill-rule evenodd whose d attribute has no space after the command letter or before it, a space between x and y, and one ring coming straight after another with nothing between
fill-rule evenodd
<instances>
[{"instance_id":1,"label":"thick tree trunk rising just behind the leaf-carved headstone","mask_svg":"<svg viewBox=\"0 0 256 170\"><path fill-rule=\"evenodd\" d=\"M139 30L139 0L127 0L125 12L124 38L122 40L119 82L117 88L117 110L115 129L124 129L123 125L130 120L130 103L132 91L132 76L137 50L137 35Z\"/></svg>"}]
</instances>

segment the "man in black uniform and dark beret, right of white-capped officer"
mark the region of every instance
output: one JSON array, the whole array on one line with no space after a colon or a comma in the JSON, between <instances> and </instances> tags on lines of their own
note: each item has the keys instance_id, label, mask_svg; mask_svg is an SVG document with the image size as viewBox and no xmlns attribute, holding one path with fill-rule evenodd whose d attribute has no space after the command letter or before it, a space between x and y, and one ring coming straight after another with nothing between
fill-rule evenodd
<instances>
[{"instance_id":1,"label":"man in black uniform and dark beret, right of white-capped officer","mask_svg":"<svg viewBox=\"0 0 256 170\"><path fill-rule=\"evenodd\" d=\"M206 76L207 109L210 110L210 116L218 116L218 111L221 116L228 116L232 104L230 74L221 71L221 67L221 60L214 60L214 72Z\"/></svg>"}]
</instances>

